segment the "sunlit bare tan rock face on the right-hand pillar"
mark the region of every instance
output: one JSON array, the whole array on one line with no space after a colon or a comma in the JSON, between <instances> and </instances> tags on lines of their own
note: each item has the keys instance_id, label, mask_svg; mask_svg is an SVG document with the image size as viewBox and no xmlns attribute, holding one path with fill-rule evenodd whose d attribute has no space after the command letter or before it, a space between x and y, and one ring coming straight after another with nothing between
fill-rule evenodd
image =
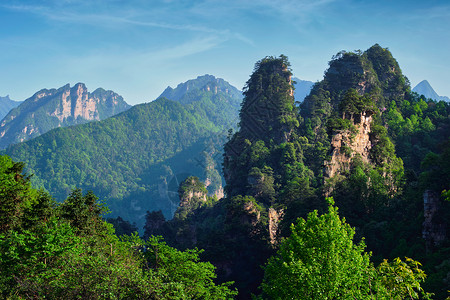
<instances>
[{"instance_id":1,"label":"sunlit bare tan rock face on the right-hand pillar","mask_svg":"<svg viewBox=\"0 0 450 300\"><path fill-rule=\"evenodd\" d=\"M331 140L331 160L325 162L325 179L349 171L350 162L355 155L360 155L365 163L370 162L369 154L372 148L370 140L372 114L363 112L349 118L356 127L356 133L349 130L336 132Z\"/></svg>"}]
</instances>

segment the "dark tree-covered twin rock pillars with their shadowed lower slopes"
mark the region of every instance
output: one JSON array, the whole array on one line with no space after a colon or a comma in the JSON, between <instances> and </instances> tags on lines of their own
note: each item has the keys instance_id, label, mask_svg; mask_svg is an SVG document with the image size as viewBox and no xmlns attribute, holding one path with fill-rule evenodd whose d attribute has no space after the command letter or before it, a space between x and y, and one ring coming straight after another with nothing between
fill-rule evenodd
<instances>
[{"instance_id":1,"label":"dark tree-covered twin rock pillars with their shadowed lower slopes","mask_svg":"<svg viewBox=\"0 0 450 300\"><path fill-rule=\"evenodd\" d=\"M438 197L439 217L430 221L436 234L447 237L424 240L422 195L429 188L438 195L449 189L446 164L437 167L446 153L449 105L411 93L398 63L379 45L338 53L298 108L290 74L284 56L255 65L239 129L224 145L227 197L194 209L182 222L167 222L160 232L173 245L204 248L219 277L236 281L244 299L258 293L263 273L257 266L290 235L291 224L315 209L324 212L329 195L356 228L355 242L366 238L371 264L390 259L379 267L388 270L408 266L397 257L422 261L430 274L423 286L442 298L448 233L439 228L448 228L442 218L448 203ZM439 184L430 184L433 176L442 176ZM414 262L409 266L416 268Z\"/></svg>"}]
</instances>

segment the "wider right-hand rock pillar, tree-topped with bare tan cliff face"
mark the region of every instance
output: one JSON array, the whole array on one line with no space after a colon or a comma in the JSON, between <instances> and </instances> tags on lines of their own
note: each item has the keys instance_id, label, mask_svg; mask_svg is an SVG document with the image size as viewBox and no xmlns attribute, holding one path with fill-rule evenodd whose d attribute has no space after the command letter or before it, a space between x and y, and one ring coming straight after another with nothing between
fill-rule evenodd
<instances>
[{"instance_id":1,"label":"wider right-hand rock pillar, tree-topped with bare tan cliff face","mask_svg":"<svg viewBox=\"0 0 450 300\"><path fill-rule=\"evenodd\" d=\"M308 166L316 174L323 172L324 194L331 195L332 182L349 175L358 156L366 167L382 170L385 184L395 193L394 173L402 173L403 166L386 134L382 113L387 103L405 99L410 89L407 78L389 50L379 45L364 52L339 52L329 65L301 105L310 128L308 138L324 146L320 155L307 157Z\"/></svg>"}]
</instances>

